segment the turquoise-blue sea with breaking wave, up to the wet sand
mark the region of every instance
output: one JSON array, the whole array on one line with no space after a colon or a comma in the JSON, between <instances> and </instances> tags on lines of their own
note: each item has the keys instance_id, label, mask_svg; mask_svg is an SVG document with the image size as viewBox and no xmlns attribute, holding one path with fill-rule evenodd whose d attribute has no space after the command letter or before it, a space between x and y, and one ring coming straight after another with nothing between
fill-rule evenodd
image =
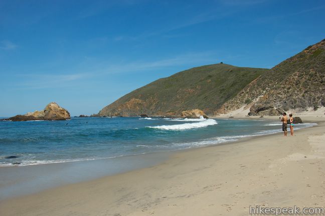
<instances>
[{"instance_id":1,"label":"turquoise-blue sea with breaking wave, up to the wet sand","mask_svg":"<svg viewBox=\"0 0 325 216\"><path fill-rule=\"evenodd\" d=\"M295 129L311 125L296 124ZM0 121L0 166L114 158L280 131L281 122L265 119L74 117L66 121Z\"/></svg>"}]
</instances>

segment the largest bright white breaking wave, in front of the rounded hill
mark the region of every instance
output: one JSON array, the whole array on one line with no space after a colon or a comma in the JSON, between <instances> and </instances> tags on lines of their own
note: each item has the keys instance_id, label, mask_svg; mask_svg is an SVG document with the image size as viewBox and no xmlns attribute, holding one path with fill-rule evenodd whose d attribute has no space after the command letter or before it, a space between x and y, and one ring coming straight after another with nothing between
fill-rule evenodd
<instances>
[{"instance_id":1,"label":"largest bright white breaking wave, in front of the rounded hill","mask_svg":"<svg viewBox=\"0 0 325 216\"><path fill-rule=\"evenodd\" d=\"M174 124L174 125L160 125L160 126L147 126L150 128L156 129L165 129L165 130L184 130L184 129L194 129L200 127L206 127L209 125L215 125L217 121L214 119L205 119L195 123L184 123L184 124Z\"/></svg>"}]
</instances>

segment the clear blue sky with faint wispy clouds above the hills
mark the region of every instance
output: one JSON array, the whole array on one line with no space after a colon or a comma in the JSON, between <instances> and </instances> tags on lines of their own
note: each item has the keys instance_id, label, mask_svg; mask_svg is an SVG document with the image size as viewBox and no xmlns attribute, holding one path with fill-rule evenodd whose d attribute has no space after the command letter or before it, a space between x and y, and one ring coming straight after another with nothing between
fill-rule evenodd
<instances>
[{"instance_id":1,"label":"clear blue sky with faint wispy clouds above the hills","mask_svg":"<svg viewBox=\"0 0 325 216\"><path fill-rule=\"evenodd\" d=\"M0 116L97 113L194 66L271 68L325 38L323 0L0 0Z\"/></svg>"}]
</instances>

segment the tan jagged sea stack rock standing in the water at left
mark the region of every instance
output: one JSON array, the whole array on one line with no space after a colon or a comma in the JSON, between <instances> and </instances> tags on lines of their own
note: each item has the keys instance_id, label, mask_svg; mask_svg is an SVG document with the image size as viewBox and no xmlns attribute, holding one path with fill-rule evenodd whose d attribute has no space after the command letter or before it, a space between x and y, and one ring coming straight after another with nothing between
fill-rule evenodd
<instances>
[{"instance_id":1,"label":"tan jagged sea stack rock standing in the water at left","mask_svg":"<svg viewBox=\"0 0 325 216\"><path fill-rule=\"evenodd\" d=\"M7 120L26 121L26 120L66 120L70 119L70 113L56 102L49 103L44 110L28 112L25 115L16 115Z\"/></svg>"}]
</instances>

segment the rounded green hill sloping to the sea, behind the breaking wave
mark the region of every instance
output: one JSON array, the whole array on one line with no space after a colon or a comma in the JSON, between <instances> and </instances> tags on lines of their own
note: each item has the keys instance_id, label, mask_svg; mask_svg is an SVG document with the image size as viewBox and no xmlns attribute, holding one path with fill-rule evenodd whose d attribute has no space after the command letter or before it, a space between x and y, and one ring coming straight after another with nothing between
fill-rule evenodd
<instances>
[{"instance_id":1,"label":"rounded green hill sloping to the sea, behind the breaking wave","mask_svg":"<svg viewBox=\"0 0 325 216\"><path fill-rule=\"evenodd\" d=\"M268 69L212 64L178 72L140 87L105 106L99 115L177 115L199 108L220 108Z\"/></svg>"}]
</instances>

